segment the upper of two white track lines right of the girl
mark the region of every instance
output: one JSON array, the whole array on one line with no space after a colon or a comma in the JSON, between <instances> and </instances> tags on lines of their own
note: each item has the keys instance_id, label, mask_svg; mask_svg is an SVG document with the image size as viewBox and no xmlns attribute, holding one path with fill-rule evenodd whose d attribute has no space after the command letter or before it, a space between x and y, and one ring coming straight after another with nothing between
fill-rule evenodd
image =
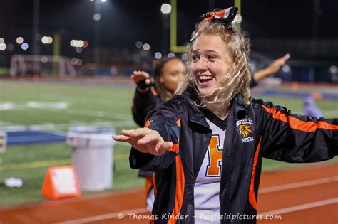
<instances>
[{"instance_id":1,"label":"upper of two white track lines right of the girl","mask_svg":"<svg viewBox=\"0 0 338 224\"><path fill-rule=\"evenodd\" d=\"M332 183L335 181L338 181L338 176L320 178L320 179L315 179L311 181L303 181L303 182L297 182L297 183L287 183L283 185L261 188L258 190L258 193L271 193L271 192L276 192L276 191L285 191L285 190L290 190L294 188L302 188L305 186L314 186L314 185L318 185L322 183Z\"/></svg>"}]
</instances>

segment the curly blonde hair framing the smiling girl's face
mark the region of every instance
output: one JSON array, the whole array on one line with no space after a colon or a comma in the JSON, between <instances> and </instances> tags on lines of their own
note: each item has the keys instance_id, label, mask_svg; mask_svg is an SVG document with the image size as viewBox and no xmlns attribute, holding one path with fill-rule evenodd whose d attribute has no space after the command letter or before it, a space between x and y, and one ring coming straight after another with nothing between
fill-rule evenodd
<instances>
[{"instance_id":1,"label":"curly blonde hair framing the smiling girl's face","mask_svg":"<svg viewBox=\"0 0 338 224\"><path fill-rule=\"evenodd\" d=\"M225 85L222 87L217 87L215 92L212 95L210 100L205 99L200 96L198 88L195 85L195 78L191 72L191 63L192 63L192 51L193 44L196 39L201 35L215 35L220 36L222 41L227 44L227 49L229 50L230 57L233 59L233 64L230 66L230 69L227 71L227 74L224 74L224 78L227 80ZM230 102L235 95L242 95L243 102L245 105L250 104L250 81L251 81L251 69L248 59L248 53L250 52L250 43L245 37L245 32L238 33L235 31L235 28L225 27L222 23L199 23L193 32L193 41L188 44L188 53L190 57L187 61L187 75L180 85L178 85L178 90L176 94L181 94L186 87L190 86L195 89L195 92L198 94L200 99L201 106L224 106L230 105Z\"/></svg>"}]
</instances>

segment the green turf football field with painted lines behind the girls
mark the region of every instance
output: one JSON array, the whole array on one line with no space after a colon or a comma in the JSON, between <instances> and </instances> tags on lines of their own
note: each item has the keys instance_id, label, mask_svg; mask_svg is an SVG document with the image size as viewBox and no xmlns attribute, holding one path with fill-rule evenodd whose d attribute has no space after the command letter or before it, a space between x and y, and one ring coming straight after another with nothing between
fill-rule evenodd
<instances>
[{"instance_id":1,"label":"green turf football field with painted lines behind the girls","mask_svg":"<svg viewBox=\"0 0 338 224\"><path fill-rule=\"evenodd\" d=\"M67 132L80 124L133 128L130 113L133 88L51 84L46 82L0 81L0 129L19 125ZM293 112L302 112L302 99L262 97L282 104ZM317 102L327 117L338 117L338 102ZM128 165L126 144L114 147L113 190L143 186L138 171ZM66 144L14 146L0 154L0 181L11 176L24 180L22 188L0 186L0 206L41 201L41 186L48 166L69 164L71 148ZM334 159L332 161L338 161ZM331 162L332 162L331 161ZM282 169L299 164L265 160L264 170Z\"/></svg>"}]
</instances>

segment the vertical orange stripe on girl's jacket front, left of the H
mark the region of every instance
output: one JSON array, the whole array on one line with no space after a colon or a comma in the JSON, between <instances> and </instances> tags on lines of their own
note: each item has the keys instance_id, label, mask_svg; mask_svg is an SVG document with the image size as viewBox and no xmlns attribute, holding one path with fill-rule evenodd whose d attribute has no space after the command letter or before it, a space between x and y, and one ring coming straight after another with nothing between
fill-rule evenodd
<instances>
[{"instance_id":1,"label":"vertical orange stripe on girl's jacket front, left of the H","mask_svg":"<svg viewBox=\"0 0 338 224\"><path fill-rule=\"evenodd\" d=\"M184 171L180 156L176 156L176 193L175 193L175 206L170 215L168 224L176 223L176 218L180 215L180 210L183 205L184 196Z\"/></svg>"}]
</instances>

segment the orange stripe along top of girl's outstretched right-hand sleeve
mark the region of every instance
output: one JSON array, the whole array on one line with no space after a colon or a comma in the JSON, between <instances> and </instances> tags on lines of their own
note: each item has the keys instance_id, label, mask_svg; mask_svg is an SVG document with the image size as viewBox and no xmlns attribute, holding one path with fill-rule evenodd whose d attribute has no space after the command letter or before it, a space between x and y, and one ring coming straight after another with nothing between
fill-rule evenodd
<instances>
[{"instance_id":1,"label":"orange stripe along top of girl's outstretched right-hand sleeve","mask_svg":"<svg viewBox=\"0 0 338 224\"><path fill-rule=\"evenodd\" d=\"M303 132L316 132L316 129L319 129L319 128L329 129L329 130L337 130L338 129L338 125L328 124L326 122L318 122L318 123L304 122L300 119L297 119L296 117L287 116L286 114L283 114L282 112L277 111L274 107L268 108L265 105L262 105L262 107L267 112L272 114L272 117L274 119L278 119L282 122L289 123L290 127L292 129L297 129L297 130L303 131Z\"/></svg>"}]
</instances>

